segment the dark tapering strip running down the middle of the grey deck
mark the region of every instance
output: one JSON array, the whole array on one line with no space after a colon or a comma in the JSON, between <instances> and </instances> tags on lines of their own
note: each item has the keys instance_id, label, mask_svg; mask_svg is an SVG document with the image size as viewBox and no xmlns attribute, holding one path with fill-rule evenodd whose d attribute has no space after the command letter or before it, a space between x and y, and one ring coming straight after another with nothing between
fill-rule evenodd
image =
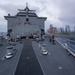
<instances>
[{"instance_id":1,"label":"dark tapering strip running down the middle of the grey deck","mask_svg":"<svg viewBox=\"0 0 75 75\"><path fill-rule=\"evenodd\" d=\"M25 40L15 75L44 75L30 40Z\"/></svg>"}]
</instances>

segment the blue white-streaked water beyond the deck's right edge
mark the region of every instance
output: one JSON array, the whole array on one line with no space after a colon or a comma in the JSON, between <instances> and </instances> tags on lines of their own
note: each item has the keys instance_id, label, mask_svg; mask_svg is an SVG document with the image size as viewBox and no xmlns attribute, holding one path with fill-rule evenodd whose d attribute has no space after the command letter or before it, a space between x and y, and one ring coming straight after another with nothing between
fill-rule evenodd
<instances>
[{"instance_id":1,"label":"blue white-streaked water beyond the deck's right edge","mask_svg":"<svg viewBox=\"0 0 75 75\"><path fill-rule=\"evenodd\" d=\"M56 41L75 57L75 41L62 37L56 38Z\"/></svg>"}]
</instances>

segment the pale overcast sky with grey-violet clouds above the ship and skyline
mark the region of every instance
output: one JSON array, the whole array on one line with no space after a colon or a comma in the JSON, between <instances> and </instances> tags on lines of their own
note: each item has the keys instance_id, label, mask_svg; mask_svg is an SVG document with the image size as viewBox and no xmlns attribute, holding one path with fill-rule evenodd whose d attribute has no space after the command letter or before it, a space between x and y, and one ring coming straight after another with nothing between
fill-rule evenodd
<instances>
[{"instance_id":1,"label":"pale overcast sky with grey-violet clouds above the ship and skyline","mask_svg":"<svg viewBox=\"0 0 75 75\"><path fill-rule=\"evenodd\" d=\"M55 27L75 26L75 0L0 0L0 32L7 31L4 16L15 15L18 9L24 9L26 2L30 9L36 10L39 17L47 17L45 29L53 24Z\"/></svg>"}]
</instances>

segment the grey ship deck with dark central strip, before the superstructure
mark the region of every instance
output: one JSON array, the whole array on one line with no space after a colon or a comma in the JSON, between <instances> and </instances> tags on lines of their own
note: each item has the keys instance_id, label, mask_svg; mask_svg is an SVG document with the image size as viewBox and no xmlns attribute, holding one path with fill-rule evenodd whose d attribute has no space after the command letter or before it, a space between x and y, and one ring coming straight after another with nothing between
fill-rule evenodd
<instances>
[{"instance_id":1,"label":"grey ship deck with dark central strip, before the superstructure","mask_svg":"<svg viewBox=\"0 0 75 75\"><path fill-rule=\"evenodd\" d=\"M0 75L75 75L75 58L56 42L46 38L47 55L43 55L39 43L24 40L17 43L17 52L11 59L3 60L6 53L6 41L0 47Z\"/></svg>"}]
</instances>

